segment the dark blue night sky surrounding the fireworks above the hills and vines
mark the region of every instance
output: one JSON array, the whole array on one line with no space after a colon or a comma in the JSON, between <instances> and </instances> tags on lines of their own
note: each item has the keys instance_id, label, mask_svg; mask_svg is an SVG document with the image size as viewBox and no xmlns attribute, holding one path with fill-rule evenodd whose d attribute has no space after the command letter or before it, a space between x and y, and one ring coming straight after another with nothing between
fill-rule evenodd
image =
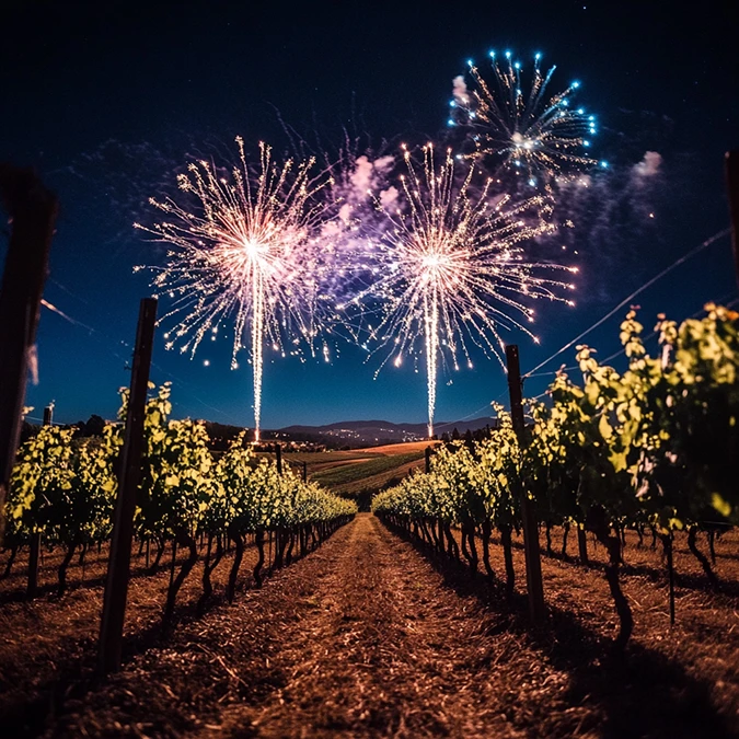
<instances>
[{"instance_id":1,"label":"dark blue night sky surrounding the fireworks above the hills and vines","mask_svg":"<svg viewBox=\"0 0 739 739\"><path fill-rule=\"evenodd\" d=\"M392 151L442 140L452 78L489 48L524 62L542 51L557 65L553 88L582 82L578 102L602 129L593 150L613 173L612 192L584 205L567 236L581 268L577 305L541 305L541 346L510 337L524 370L728 226L723 155L739 146L728 2L182 4L2 3L0 161L33 165L59 196L45 297L73 321L42 313L32 416L50 401L60 422L115 416L138 302L151 292L132 267L162 257L131 223L155 218L147 198L172 192L188 158L233 155L236 135L252 151L262 139L285 150L278 115L312 142L337 139L342 127ZM633 168L647 151L661 163L637 186ZM650 331L658 312L682 319L712 299L736 299L727 238L634 302ZM588 337L600 356L617 350L617 324ZM373 380L379 358L365 356L346 344L331 365L268 361L263 426L425 420L423 366L389 366ZM165 351L160 332L152 380L173 381L177 417L251 425L251 369L231 371L229 359L227 342L193 361ZM440 380L438 420L485 415L505 392L497 363L475 359ZM550 379L527 381L526 394Z\"/></svg>"}]
</instances>

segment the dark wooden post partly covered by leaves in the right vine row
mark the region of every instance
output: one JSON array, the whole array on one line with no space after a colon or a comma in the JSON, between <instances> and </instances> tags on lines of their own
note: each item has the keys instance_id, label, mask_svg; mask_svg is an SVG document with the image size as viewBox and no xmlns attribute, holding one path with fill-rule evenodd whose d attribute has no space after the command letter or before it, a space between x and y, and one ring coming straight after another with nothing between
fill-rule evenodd
<instances>
[{"instance_id":1,"label":"dark wooden post partly covered by leaves in the right vine row","mask_svg":"<svg viewBox=\"0 0 739 739\"><path fill-rule=\"evenodd\" d=\"M510 416L513 430L521 449L526 444L523 424L523 400L521 397L521 367L518 346L506 346L506 363L508 366L508 393L510 395ZM529 592L529 614L534 624L543 621L545 614L544 586L542 582L542 563L539 552L539 529L532 501L521 481L519 489L521 500L521 521L523 523L523 552L526 554L526 584Z\"/></svg>"}]
</instances>

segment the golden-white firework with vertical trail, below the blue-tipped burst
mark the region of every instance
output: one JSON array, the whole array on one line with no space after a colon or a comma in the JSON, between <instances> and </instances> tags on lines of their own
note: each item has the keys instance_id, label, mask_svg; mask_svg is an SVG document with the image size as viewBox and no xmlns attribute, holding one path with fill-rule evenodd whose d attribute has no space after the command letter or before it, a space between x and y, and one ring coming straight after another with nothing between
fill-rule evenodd
<instances>
[{"instance_id":1,"label":"golden-white firework with vertical trail, below the blue-tipped burst","mask_svg":"<svg viewBox=\"0 0 739 739\"><path fill-rule=\"evenodd\" d=\"M492 192L490 178L477 181L474 162L455 168L451 150L438 166L430 143L420 161L403 151L407 174L400 178L392 211L376 200L385 227L354 256L368 285L339 308L368 307L370 337L390 349L380 369L425 355L430 437L439 359L459 369L463 357L472 367L474 345L501 361L500 327L520 328L538 340L526 325L534 315L528 299L563 300L561 288L573 286L547 270L577 269L524 259L522 242L551 230L547 197L513 205ZM376 325L369 323L373 315Z\"/></svg>"}]
</instances>

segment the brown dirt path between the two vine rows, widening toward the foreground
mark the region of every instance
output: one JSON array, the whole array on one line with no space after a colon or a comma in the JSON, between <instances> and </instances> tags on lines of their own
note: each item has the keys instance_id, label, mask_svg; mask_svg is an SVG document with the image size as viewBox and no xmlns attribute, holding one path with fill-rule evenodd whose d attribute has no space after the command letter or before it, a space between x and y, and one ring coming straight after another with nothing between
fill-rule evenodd
<instances>
[{"instance_id":1,"label":"brown dirt path between the two vine rows, widening toward the foreground","mask_svg":"<svg viewBox=\"0 0 739 739\"><path fill-rule=\"evenodd\" d=\"M262 590L70 691L46 736L736 736L679 665L646 650L610 665L575 620L521 622L360 515Z\"/></svg>"}]
</instances>

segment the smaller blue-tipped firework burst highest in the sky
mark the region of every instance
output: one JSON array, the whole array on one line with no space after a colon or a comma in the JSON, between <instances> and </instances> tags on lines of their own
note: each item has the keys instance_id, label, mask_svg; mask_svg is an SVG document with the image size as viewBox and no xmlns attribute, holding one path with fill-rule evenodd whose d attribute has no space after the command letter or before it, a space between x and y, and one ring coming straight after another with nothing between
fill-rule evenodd
<instances>
[{"instance_id":1,"label":"smaller blue-tipped firework burst highest in the sky","mask_svg":"<svg viewBox=\"0 0 739 739\"><path fill-rule=\"evenodd\" d=\"M500 62L489 53L492 80L467 61L472 89L463 76L454 79L449 124L467 128L474 145L472 155L487 155L529 185L547 184L599 164L588 157L597 131L596 116L574 104L580 86L575 81L551 97L547 86L556 67L542 72L541 54L534 56L531 86L524 90L521 63L505 53ZM608 166L600 162L600 166Z\"/></svg>"}]
</instances>

